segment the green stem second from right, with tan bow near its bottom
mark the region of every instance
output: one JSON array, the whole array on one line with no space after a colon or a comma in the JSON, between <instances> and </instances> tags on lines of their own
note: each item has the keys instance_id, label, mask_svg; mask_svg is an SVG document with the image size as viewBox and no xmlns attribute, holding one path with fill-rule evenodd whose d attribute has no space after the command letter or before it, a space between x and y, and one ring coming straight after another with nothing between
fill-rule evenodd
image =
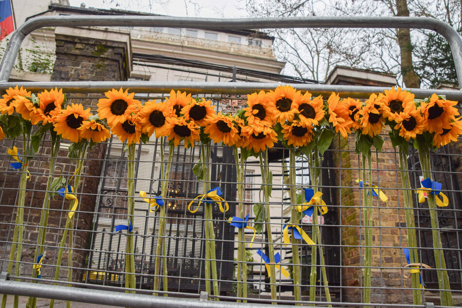
<instances>
[{"instance_id":1,"label":"green stem second from right, with tan bow near its bottom","mask_svg":"<svg viewBox=\"0 0 462 308\"><path fill-rule=\"evenodd\" d=\"M399 170L401 175L401 183L404 186L404 214L406 217L407 226L407 242L409 247L409 257L411 263L419 263L419 257L417 255L417 237L415 233L415 222L414 222L414 210L412 208L412 191L411 181L409 179L409 173L407 172L406 153L407 151L400 146L399 147ZM422 305L422 297L420 294L420 275L419 273L411 274L412 283L412 298L414 305Z\"/></svg>"}]
</instances>

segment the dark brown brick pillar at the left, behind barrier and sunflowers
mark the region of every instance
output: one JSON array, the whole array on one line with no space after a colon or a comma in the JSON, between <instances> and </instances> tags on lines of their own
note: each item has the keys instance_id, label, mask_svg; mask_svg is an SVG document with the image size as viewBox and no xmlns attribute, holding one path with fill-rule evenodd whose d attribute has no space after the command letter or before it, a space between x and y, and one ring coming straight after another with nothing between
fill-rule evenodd
<instances>
[{"instance_id":1,"label":"dark brown brick pillar at the left, behind barrier and sunflowers","mask_svg":"<svg viewBox=\"0 0 462 308\"><path fill-rule=\"evenodd\" d=\"M95 35L98 36L98 35ZM56 63L53 68L51 80L62 81L121 81L126 80L129 76L129 65L127 64L127 43L120 41L110 41L104 39L73 36L66 34L56 34ZM66 92L66 91L65 91ZM103 93L97 95L92 94L76 94L66 93L69 98L68 103L83 103L86 107L90 107L93 112L96 110L95 96L103 97ZM6 149L12 145L12 141L0 141L0 153L6 153ZM64 142L63 142L64 143ZM20 142L15 145L21 152ZM68 150L66 147L59 152L57 166L61 167L65 174L74 172L75 162L72 162L67 157ZM86 249L89 248L90 232L92 228L93 211L96 202L96 193L100 180L102 169L102 159L104 158L104 144L96 146L88 154L88 159L84 163L83 177L79 189L79 210L76 213L74 226L77 230L74 237L74 280L81 278L79 268L85 266ZM37 225L40 222L40 212L45 195L47 174L49 170L49 155L50 141L45 138L38 153L29 163L29 171L31 178L27 182L27 193L25 203L25 234L23 247L24 262L33 262L35 243L37 240L38 229ZM2 157L0 168L4 172L0 172L0 185L2 187L0 193L0 242L10 241L13 238L14 226L11 224L16 218L17 205L17 188L19 183L20 173L8 168L8 157L6 154ZM55 173L59 173L56 169ZM54 268L47 264L54 264L57 255L57 247L62 238L62 230L66 222L66 213L69 207L69 201L58 196L51 201L50 217L48 222L48 230L45 245L45 258L42 266L42 276L50 278L51 271ZM7 259L11 245L0 244L0 255ZM67 252L63 256L62 264L67 266ZM0 263L1 264L1 263ZM2 270L6 270L6 262L3 262ZM22 275L31 274L31 266L22 266ZM66 276L64 270L61 271L61 279Z\"/></svg>"}]
</instances>

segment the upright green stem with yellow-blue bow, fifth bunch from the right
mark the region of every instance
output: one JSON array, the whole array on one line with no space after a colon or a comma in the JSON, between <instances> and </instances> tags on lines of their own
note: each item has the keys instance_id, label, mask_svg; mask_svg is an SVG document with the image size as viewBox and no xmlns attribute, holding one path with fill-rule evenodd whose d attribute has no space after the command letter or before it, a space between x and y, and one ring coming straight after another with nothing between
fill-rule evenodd
<instances>
[{"instance_id":1,"label":"upright green stem with yellow-blue bow, fifth bunch from the right","mask_svg":"<svg viewBox=\"0 0 462 308\"><path fill-rule=\"evenodd\" d=\"M299 225L300 219L297 217L296 203L296 173L295 173L295 149L289 150L289 178L291 180L290 186L290 196L291 196L291 223ZM295 239L293 234L293 228L291 230L291 241L292 241L292 275L293 275L293 294L294 299L297 302L302 300L301 294L301 284L302 284L302 273L300 268L300 255L298 251L298 246L300 245L300 240ZM301 304L296 304L300 306Z\"/></svg>"}]
</instances>

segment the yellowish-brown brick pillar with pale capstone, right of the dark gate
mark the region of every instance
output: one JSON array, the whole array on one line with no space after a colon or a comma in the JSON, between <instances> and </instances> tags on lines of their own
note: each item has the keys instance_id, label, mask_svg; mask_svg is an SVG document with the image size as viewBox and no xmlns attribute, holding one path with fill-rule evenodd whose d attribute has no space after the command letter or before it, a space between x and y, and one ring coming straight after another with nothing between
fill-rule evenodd
<instances>
[{"instance_id":1,"label":"yellowish-brown brick pillar with pale capstone, right of the dark gate","mask_svg":"<svg viewBox=\"0 0 462 308\"><path fill-rule=\"evenodd\" d=\"M355 68L336 67L326 79L327 84L355 86L386 86L395 85L395 76ZM386 132L384 132L386 134ZM334 151L334 166L340 167L336 185L347 187L338 189L340 205L342 206L339 221L342 224L342 286L348 287L342 291L343 302L361 302L360 289L362 285L362 270L364 264L364 215L362 208L362 191L359 190L356 179L361 178L361 158L355 151L355 137L348 140L339 134L332 143ZM340 150L340 151L338 151ZM399 162L390 138L384 136L382 153L372 153L373 179L372 183L381 188L400 188L401 178L396 171ZM340 180L339 180L340 179ZM351 188L348 188L351 187ZM373 246L400 247L406 246L406 226L402 191L383 189L388 196L388 202L379 202L374 197L373 202ZM399 200L398 200L399 196ZM351 225L351 227L349 227ZM371 286L374 288L401 288L403 278L403 253L400 248L373 248L372 250ZM397 269L393 269L396 267ZM383 268L383 269L380 269ZM353 288L351 288L353 287ZM404 280L404 287L411 287L410 279ZM405 291L406 293L408 291ZM406 296L412 303L412 295ZM372 303L402 303L401 292L387 289L372 289Z\"/></svg>"}]
</instances>

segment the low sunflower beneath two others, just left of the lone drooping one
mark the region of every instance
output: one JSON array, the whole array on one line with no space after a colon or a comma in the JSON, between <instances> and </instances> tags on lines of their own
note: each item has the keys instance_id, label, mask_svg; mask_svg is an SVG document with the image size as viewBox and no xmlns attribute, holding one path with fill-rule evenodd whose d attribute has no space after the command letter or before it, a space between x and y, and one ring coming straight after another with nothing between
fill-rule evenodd
<instances>
[{"instance_id":1,"label":"low sunflower beneath two others, just left of the lone drooping one","mask_svg":"<svg viewBox=\"0 0 462 308\"><path fill-rule=\"evenodd\" d=\"M194 148L194 141L198 141L199 137L199 126L194 124L194 121L187 122L184 118L170 118L168 124L167 140L173 139L173 144L178 146L181 140L185 139L185 148L188 144Z\"/></svg>"}]
</instances>

